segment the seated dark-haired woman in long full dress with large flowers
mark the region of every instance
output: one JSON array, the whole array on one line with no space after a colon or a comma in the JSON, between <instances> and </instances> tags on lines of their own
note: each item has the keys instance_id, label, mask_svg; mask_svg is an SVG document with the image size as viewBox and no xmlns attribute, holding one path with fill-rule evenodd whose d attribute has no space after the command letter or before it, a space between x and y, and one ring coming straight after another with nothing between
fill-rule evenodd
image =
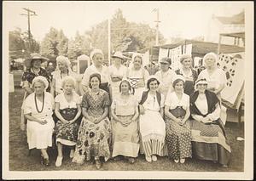
<instances>
[{"instance_id":1,"label":"seated dark-haired woman in long full dress with large flowers","mask_svg":"<svg viewBox=\"0 0 256 181\"><path fill-rule=\"evenodd\" d=\"M82 99L83 119L79 127L79 137L76 144L73 162L80 164L90 161L94 156L96 168L100 169L102 163L100 157L108 161L110 157L109 138L110 122L108 120L109 94L99 88L101 75L94 73L89 78L89 89Z\"/></svg>"}]
</instances>

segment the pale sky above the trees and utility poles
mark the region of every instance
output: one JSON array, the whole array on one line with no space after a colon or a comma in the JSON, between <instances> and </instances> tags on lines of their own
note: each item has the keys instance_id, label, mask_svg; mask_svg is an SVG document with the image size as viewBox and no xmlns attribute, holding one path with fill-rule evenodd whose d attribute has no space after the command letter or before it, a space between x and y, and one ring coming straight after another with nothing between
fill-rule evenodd
<instances>
[{"instance_id":1,"label":"pale sky above the trees and utility poles","mask_svg":"<svg viewBox=\"0 0 256 181\"><path fill-rule=\"evenodd\" d=\"M3 2L3 26L9 31L20 27L27 31L27 16L22 8L30 8L38 14L31 16L32 36L42 41L50 27L62 29L68 37L79 31L90 30L102 20L111 18L118 8L127 21L145 23L155 28L156 13L160 9L160 33L170 37L193 38L207 34L212 14L231 16L244 8L241 2L61 2L20 1ZM5 21L4 21L5 20ZM107 31L107 30L106 30Z\"/></svg>"}]
</instances>

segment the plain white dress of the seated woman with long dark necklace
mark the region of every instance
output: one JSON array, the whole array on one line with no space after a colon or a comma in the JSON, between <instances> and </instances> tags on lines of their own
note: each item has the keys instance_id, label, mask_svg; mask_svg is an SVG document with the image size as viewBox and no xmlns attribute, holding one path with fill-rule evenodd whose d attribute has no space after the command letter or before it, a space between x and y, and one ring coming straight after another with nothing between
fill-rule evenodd
<instances>
[{"instance_id":1,"label":"plain white dress of the seated woman with long dark necklace","mask_svg":"<svg viewBox=\"0 0 256 181\"><path fill-rule=\"evenodd\" d=\"M44 92L44 103L35 97L35 93L30 94L25 100L24 114L30 114L38 119L46 120L46 124L27 121L26 137L29 149L46 149L52 146L52 133L54 131L55 122L52 114L54 108L54 98L50 93ZM35 100L37 99L37 101ZM38 110L36 107L38 105ZM42 107L44 106L43 110ZM40 112L42 110L42 112Z\"/></svg>"}]
</instances>

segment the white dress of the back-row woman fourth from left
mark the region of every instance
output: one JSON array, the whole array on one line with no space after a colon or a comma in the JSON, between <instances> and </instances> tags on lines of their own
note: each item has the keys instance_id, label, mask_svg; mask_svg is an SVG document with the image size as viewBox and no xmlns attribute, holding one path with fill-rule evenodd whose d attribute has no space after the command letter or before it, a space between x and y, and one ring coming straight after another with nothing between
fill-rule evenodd
<instances>
[{"instance_id":1,"label":"white dress of the back-row woman fourth from left","mask_svg":"<svg viewBox=\"0 0 256 181\"><path fill-rule=\"evenodd\" d=\"M119 82L112 82L111 77L122 76L124 79L126 76L126 71L127 71L127 67L125 67L125 65L120 65L119 68L117 68L114 65L110 65L108 67L108 72L109 72L109 76L110 76L109 80L111 83L113 97L119 94L119 84L120 84L121 80Z\"/></svg>"}]
</instances>

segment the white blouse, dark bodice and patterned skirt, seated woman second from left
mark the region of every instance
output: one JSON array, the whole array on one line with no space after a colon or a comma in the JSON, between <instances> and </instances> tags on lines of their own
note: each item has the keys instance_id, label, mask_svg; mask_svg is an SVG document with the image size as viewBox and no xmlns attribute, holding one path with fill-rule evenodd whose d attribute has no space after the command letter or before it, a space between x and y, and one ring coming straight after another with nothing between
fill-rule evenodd
<instances>
[{"instance_id":1,"label":"white blouse, dark bodice and patterned skirt, seated woman second from left","mask_svg":"<svg viewBox=\"0 0 256 181\"><path fill-rule=\"evenodd\" d=\"M55 103L60 103L60 113L64 119L71 121L78 112L78 105L81 104L81 99L79 95L73 92L73 99L68 102L61 93L55 97ZM67 125L58 120L55 125L56 143L73 146L76 144L79 133L79 122L74 122L73 124Z\"/></svg>"}]
</instances>

